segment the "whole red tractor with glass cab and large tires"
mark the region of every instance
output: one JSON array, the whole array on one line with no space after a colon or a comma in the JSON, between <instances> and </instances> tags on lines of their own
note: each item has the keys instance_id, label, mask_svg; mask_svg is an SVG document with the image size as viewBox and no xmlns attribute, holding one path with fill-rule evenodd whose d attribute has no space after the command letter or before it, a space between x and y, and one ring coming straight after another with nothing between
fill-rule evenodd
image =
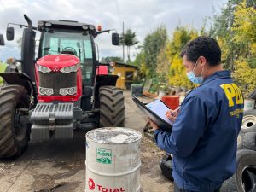
<instances>
[{"instance_id":1,"label":"whole red tractor with glass cab and large tires","mask_svg":"<svg viewBox=\"0 0 256 192\"><path fill-rule=\"evenodd\" d=\"M118 76L100 74L95 26L70 20L26 16L21 44L21 73L0 73L0 158L19 156L29 140L73 138L76 128L123 126L125 103L115 87ZM41 32L38 58L35 36ZM14 27L7 39L14 39ZM119 34L112 34L113 45ZM107 64L105 64L107 65Z\"/></svg>"}]
</instances>

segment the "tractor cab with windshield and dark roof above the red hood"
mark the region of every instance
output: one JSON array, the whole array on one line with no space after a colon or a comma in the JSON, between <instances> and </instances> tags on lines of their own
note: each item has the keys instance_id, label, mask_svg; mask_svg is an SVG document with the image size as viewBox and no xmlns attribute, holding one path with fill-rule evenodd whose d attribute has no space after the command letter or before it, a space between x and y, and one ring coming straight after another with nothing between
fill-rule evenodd
<instances>
[{"instance_id":1,"label":"tractor cab with windshield and dark roof above the red hood","mask_svg":"<svg viewBox=\"0 0 256 192\"><path fill-rule=\"evenodd\" d=\"M41 31L38 57L75 55L80 60L83 84L93 84L96 73L95 26L69 20L38 21Z\"/></svg>"}]
</instances>

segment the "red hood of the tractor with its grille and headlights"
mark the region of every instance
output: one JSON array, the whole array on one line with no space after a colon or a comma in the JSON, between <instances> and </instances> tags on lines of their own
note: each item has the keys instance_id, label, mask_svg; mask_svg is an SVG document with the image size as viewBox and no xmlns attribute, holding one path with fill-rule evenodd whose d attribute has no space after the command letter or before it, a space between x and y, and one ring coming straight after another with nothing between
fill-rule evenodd
<instances>
[{"instance_id":1,"label":"red hood of the tractor with its grille and headlights","mask_svg":"<svg viewBox=\"0 0 256 192\"><path fill-rule=\"evenodd\" d=\"M82 74L75 55L45 55L36 64L38 102L77 102L82 96Z\"/></svg>"}]
</instances>

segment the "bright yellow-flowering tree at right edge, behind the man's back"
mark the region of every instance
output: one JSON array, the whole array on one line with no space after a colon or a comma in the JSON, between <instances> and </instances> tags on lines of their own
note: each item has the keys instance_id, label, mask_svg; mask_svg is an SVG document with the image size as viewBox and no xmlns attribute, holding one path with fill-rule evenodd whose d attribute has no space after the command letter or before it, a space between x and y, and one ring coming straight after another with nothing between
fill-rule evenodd
<instances>
[{"instance_id":1,"label":"bright yellow-flowering tree at right edge, behind the man's back","mask_svg":"<svg viewBox=\"0 0 256 192\"><path fill-rule=\"evenodd\" d=\"M232 40L244 49L237 55L233 76L244 94L256 88L256 9L255 5L242 1L234 12Z\"/></svg>"}]
</instances>

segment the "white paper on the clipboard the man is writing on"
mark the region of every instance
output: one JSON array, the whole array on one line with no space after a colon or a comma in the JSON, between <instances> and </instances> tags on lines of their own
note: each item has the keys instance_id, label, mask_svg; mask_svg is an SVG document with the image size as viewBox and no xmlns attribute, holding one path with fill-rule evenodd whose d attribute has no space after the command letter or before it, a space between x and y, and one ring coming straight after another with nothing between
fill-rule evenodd
<instances>
[{"instance_id":1,"label":"white paper on the clipboard the man is writing on","mask_svg":"<svg viewBox=\"0 0 256 192\"><path fill-rule=\"evenodd\" d=\"M156 113L161 119L164 119L167 123L173 125L173 121L166 118L166 111L168 111L170 108L168 108L159 99L155 100L154 102L148 103L146 107Z\"/></svg>"}]
</instances>

